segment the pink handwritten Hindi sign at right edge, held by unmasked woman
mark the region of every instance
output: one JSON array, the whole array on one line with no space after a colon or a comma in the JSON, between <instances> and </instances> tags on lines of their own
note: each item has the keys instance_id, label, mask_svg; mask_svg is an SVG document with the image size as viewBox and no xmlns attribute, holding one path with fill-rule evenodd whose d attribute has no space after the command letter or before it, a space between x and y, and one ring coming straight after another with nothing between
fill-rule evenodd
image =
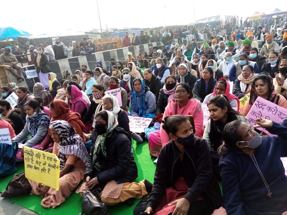
<instances>
[{"instance_id":1,"label":"pink handwritten Hindi sign at right edge, held by unmasked woman","mask_svg":"<svg viewBox=\"0 0 287 215\"><path fill-rule=\"evenodd\" d=\"M255 120L258 117L280 123L283 119L287 118L287 110L266 99L257 97L246 117L251 125L255 125ZM258 130L265 132L269 136L276 136L270 134L265 128L258 128Z\"/></svg>"}]
</instances>

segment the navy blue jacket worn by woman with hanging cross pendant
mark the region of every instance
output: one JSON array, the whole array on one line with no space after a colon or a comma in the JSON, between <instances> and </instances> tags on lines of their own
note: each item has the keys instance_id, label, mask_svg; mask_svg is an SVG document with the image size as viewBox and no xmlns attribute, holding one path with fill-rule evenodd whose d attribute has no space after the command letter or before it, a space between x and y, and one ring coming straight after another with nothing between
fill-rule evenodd
<instances>
[{"instance_id":1,"label":"navy blue jacket worn by woman with hanging cross pendant","mask_svg":"<svg viewBox=\"0 0 287 215\"><path fill-rule=\"evenodd\" d=\"M287 128L273 122L268 131L279 138L262 137L254 156L272 197L267 196L267 188L251 157L241 150L232 150L219 161L227 214L279 215L287 211L287 177L280 160L287 156Z\"/></svg>"}]
</instances>

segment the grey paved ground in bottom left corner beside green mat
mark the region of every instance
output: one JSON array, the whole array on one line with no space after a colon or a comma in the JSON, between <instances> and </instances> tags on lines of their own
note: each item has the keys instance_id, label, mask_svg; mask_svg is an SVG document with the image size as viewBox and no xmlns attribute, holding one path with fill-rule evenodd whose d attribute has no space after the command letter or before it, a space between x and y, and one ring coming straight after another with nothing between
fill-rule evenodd
<instances>
[{"instance_id":1,"label":"grey paved ground in bottom left corner beside green mat","mask_svg":"<svg viewBox=\"0 0 287 215\"><path fill-rule=\"evenodd\" d=\"M7 198L0 197L0 215L38 215L18 204L11 204Z\"/></svg>"}]
</instances>

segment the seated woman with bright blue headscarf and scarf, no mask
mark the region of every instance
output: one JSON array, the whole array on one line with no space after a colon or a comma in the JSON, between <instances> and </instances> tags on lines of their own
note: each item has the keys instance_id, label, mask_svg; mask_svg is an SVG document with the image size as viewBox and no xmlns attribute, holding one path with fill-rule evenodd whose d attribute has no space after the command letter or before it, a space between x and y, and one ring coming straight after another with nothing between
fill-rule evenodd
<instances>
[{"instance_id":1,"label":"seated woman with bright blue headscarf and scarf, no mask","mask_svg":"<svg viewBox=\"0 0 287 215\"><path fill-rule=\"evenodd\" d=\"M143 80L135 78L129 104L131 115L152 118L155 116L155 110L156 96L146 87Z\"/></svg>"}]
</instances>

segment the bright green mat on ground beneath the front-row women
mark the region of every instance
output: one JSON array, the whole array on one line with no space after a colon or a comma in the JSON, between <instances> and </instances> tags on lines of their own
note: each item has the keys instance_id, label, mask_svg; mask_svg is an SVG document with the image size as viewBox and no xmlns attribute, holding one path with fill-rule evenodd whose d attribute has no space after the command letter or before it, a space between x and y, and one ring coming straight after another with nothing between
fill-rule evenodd
<instances>
[{"instance_id":1,"label":"bright green mat on ground beneath the front-row women","mask_svg":"<svg viewBox=\"0 0 287 215\"><path fill-rule=\"evenodd\" d=\"M137 163L138 177L136 182L139 182L143 179L147 179L150 182L154 182L154 172L156 169L156 164L153 162L155 159L150 157L150 152L148 149L147 142L136 144L133 140L132 146L134 148L133 156L135 157L135 162ZM18 163L18 170L15 174L24 171L24 163ZM8 182L14 177L14 175L0 179L0 192L3 192L6 189ZM11 203L19 204L29 210L33 210L40 215L54 215L54 214L79 214L81 211L82 197L73 191L71 196L66 199L66 201L56 208L44 208L40 205L42 197L36 195L30 196L19 196L9 199ZM121 203L116 206L108 207L109 212L112 215L126 215L133 214L133 208L139 200L135 200L132 206L128 206L126 203Z\"/></svg>"}]
</instances>

